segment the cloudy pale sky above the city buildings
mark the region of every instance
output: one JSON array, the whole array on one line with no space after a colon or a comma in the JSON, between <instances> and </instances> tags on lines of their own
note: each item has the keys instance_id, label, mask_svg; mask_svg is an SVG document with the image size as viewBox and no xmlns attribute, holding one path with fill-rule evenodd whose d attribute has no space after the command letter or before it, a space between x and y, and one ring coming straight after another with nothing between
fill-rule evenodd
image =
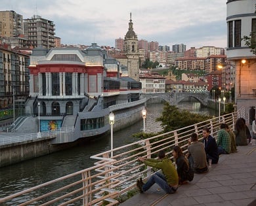
<instances>
[{"instance_id":1,"label":"cloudy pale sky above the city buildings","mask_svg":"<svg viewBox=\"0 0 256 206\"><path fill-rule=\"evenodd\" d=\"M115 46L128 31L160 45L226 47L226 0L0 0L1 10L55 24L63 44Z\"/></svg>"}]
</instances>

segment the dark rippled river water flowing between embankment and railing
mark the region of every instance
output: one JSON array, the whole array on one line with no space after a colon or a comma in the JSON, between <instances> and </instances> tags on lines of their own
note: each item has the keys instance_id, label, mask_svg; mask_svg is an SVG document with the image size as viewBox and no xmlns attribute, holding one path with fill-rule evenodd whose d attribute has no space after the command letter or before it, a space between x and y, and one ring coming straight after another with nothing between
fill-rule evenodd
<instances>
[{"instance_id":1,"label":"dark rippled river water flowing between embankment and railing","mask_svg":"<svg viewBox=\"0 0 256 206\"><path fill-rule=\"evenodd\" d=\"M193 101L179 103L179 108L215 115L215 111L201 108L200 103ZM146 132L161 131L160 122L155 120L161 115L163 104L147 105L146 109ZM139 140L132 135L142 131L142 128L143 122L140 121L129 128L114 132L114 148ZM91 167L95 160L91 160L90 156L106 150L110 150L110 134L64 151L2 167L0 168L0 197Z\"/></svg>"}]
</instances>

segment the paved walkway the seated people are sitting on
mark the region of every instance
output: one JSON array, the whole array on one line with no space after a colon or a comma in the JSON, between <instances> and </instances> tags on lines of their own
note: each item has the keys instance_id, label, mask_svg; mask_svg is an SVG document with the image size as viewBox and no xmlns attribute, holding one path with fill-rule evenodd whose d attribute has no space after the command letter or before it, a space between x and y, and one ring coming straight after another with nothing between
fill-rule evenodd
<instances>
[{"instance_id":1,"label":"paved walkway the seated people are sitting on","mask_svg":"<svg viewBox=\"0 0 256 206\"><path fill-rule=\"evenodd\" d=\"M154 184L144 194L137 194L121 206L256 206L256 146L238 146L238 152L221 155L209 173L195 174L194 180L179 187L175 194L158 191Z\"/></svg>"}]
</instances>

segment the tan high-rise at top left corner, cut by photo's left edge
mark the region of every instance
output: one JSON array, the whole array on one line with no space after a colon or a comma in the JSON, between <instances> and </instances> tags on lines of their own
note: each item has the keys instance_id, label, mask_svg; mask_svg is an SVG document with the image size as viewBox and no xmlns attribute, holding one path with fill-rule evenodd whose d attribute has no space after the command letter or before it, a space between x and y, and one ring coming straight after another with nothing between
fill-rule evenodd
<instances>
[{"instance_id":1,"label":"tan high-rise at top left corner, cut by photo's left edge","mask_svg":"<svg viewBox=\"0 0 256 206\"><path fill-rule=\"evenodd\" d=\"M13 10L0 11L0 37L18 37L23 33L23 17Z\"/></svg>"}]
</instances>

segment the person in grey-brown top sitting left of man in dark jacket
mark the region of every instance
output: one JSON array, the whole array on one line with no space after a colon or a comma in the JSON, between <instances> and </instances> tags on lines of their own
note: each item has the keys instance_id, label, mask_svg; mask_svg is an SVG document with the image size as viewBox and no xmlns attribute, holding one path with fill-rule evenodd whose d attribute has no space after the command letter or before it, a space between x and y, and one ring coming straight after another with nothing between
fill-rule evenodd
<instances>
[{"instance_id":1,"label":"person in grey-brown top sitting left of man in dark jacket","mask_svg":"<svg viewBox=\"0 0 256 206\"><path fill-rule=\"evenodd\" d=\"M209 171L203 143L198 141L196 133L192 133L191 139L188 140L188 153L186 157L190 166L194 168L194 173L207 173Z\"/></svg>"}]
</instances>

